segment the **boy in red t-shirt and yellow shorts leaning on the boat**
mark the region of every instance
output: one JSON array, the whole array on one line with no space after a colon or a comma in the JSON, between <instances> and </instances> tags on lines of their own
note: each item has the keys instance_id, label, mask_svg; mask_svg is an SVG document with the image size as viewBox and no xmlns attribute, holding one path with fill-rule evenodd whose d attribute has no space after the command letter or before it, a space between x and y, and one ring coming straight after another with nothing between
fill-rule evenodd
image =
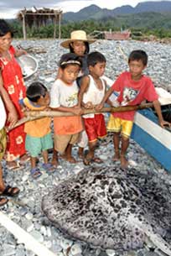
<instances>
[{"instance_id":1,"label":"boy in red t-shirt and yellow shorts leaning on the boat","mask_svg":"<svg viewBox=\"0 0 171 256\"><path fill-rule=\"evenodd\" d=\"M155 91L153 82L148 76L144 76L142 71L147 67L148 55L143 50L133 50L128 58L129 71L123 72L117 81L106 91L106 95L101 104L96 107L100 110L106 99L111 96L113 91L119 91L117 102L122 106L134 106L140 104L143 100L153 102L153 106L158 114L158 122L163 127L168 122L163 120L158 94ZM121 160L122 168L127 168L128 162L126 152L129 145L129 138L132 132L132 125L135 111L115 112L111 114L107 128L113 131L113 144L115 149L114 161ZM121 135L121 152L119 150Z\"/></svg>"}]
</instances>

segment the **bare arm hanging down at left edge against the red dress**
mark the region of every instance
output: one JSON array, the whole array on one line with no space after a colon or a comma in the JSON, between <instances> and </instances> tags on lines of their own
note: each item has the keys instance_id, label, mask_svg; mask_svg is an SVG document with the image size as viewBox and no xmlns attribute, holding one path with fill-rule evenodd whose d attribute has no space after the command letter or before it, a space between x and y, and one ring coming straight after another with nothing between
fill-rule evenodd
<instances>
[{"instance_id":1,"label":"bare arm hanging down at left edge against the red dress","mask_svg":"<svg viewBox=\"0 0 171 256\"><path fill-rule=\"evenodd\" d=\"M8 96L8 92L3 87L3 77L0 71L0 94L3 98L3 102L5 104L5 107L8 109L8 122L10 123L10 127L13 127L13 125L18 121L18 113L13 106L13 102Z\"/></svg>"}]
</instances>

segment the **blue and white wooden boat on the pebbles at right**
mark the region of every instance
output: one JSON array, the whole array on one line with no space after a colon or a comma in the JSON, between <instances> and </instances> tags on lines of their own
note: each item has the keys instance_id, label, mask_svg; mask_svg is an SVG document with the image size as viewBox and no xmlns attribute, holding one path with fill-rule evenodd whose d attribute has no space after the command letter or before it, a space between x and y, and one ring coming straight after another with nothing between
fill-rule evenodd
<instances>
[{"instance_id":1,"label":"blue and white wooden boat on the pebbles at right","mask_svg":"<svg viewBox=\"0 0 171 256\"><path fill-rule=\"evenodd\" d=\"M104 77L107 85L113 81ZM171 94L163 88L156 88L158 100L161 104L163 118L171 122ZM115 95L112 98L116 98ZM137 111L132 128L131 138L145 149L164 169L171 171L171 129L161 128L158 125L158 117L153 108Z\"/></svg>"}]
</instances>

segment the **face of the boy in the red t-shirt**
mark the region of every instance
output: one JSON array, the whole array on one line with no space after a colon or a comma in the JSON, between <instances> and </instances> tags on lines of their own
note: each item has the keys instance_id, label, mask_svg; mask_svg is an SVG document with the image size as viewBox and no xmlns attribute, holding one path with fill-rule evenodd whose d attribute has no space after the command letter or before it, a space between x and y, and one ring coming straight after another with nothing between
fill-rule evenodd
<instances>
[{"instance_id":1,"label":"face of the boy in the red t-shirt","mask_svg":"<svg viewBox=\"0 0 171 256\"><path fill-rule=\"evenodd\" d=\"M142 71L146 65L143 65L142 60L131 60L129 62L129 71L132 75L133 80L139 80L142 76Z\"/></svg>"}]
</instances>

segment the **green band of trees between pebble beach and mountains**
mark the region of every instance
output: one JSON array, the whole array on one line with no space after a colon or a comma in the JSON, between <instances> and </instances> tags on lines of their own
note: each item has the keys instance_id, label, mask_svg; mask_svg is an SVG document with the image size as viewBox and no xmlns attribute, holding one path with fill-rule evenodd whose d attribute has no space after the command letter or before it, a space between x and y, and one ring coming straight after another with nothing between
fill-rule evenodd
<instances>
[{"instance_id":1,"label":"green band of trees between pebble beach and mountains","mask_svg":"<svg viewBox=\"0 0 171 256\"><path fill-rule=\"evenodd\" d=\"M23 37L22 24L18 20L11 22L16 38ZM114 18L103 18L101 20L83 20L80 22L66 22L61 24L61 37L70 38L70 32L76 29L83 29L87 34L95 30L119 31L130 29L132 34L139 31L144 36L153 34L158 38L171 37L171 13L137 13L117 15ZM49 23L41 28L29 28L27 26L28 38L53 38L54 24ZM58 24L56 26L56 37L58 37Z\"/></svg>"}]
</instances>

